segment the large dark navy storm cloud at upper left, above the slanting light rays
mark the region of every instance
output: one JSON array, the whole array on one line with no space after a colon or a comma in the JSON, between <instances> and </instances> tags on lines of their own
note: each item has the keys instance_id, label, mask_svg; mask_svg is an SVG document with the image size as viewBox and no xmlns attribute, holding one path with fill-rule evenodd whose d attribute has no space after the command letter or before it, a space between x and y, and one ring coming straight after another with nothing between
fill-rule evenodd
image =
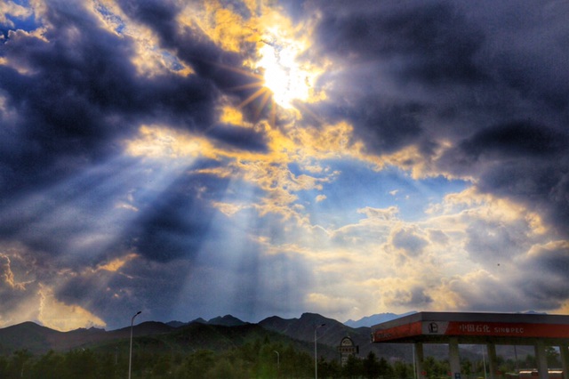
<instances>
[{"instance_id":1,"label":"large dark navy storm cloud at upper left, above the slanting light rays","mask_svg":"<svg viewBox=\"0 0 569 379\"><path fill-rule=\"evenodd\" d=\"M16 125L3 128L10 143L2 149L9 167L4 191L55 180L116 153L114 141L140 121L166 117L188 128L212 122L211 85L198 77L135 77L129 40L85 14L50 8L46 22L56 26L48 28L49 43L20 33L3 46L30 71L0 67L7 105L19 115Z\"/></svg>"}]
</instances>

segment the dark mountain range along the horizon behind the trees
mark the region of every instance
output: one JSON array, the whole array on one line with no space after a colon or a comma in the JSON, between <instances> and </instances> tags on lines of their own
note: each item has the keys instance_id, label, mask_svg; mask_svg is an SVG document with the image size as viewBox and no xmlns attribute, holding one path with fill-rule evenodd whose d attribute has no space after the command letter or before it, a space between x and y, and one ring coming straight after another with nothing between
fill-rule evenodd
<instances>
[{"instance_id":1,"label":"dark mountain range along the horizon behind the trees","mask_svg":"<svg viewBox=\"0 0 569 379\"><path fill-rule=\"evenodd\" d=\"M282 319L273 316L252 324L226 315L208 321L195 319L188 323L142 322L132 327L132 335L135 345L148 352L164 349L180 352L199 349L223 351L268 338L272 342L290 344L295 349L309 353L314 349L314 340L317 336L318 354L325 356L326 359L338 358L336 347L340 345L342 338L348 336L359 346L360 357L365 357L373 351L378 357L411 362L413 348L410 344L370 341L371 328L368 325L401 316L404 315L385 313L357 321L349 320L342 324L316 313L303 313L300 319ZM316 328L323 324L324 327ZM111 331L92 327L60 332L33 322L24 322L0 328L0 354L12 354L13 351L23 349L35 354L73 349L127 351L130 334L131 327ZM461 358L480 359L478 352L468 347L461 347ZM437 359L447 359L448 347L442 344L428 345L425 353Z\"/></svg>"}]
</instances>

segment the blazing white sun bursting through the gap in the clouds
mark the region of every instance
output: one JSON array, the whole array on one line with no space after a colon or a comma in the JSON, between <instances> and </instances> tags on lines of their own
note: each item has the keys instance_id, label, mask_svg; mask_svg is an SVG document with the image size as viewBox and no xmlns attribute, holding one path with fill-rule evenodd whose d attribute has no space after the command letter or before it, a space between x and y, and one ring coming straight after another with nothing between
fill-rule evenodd
<instances>
[{"instance_id":1,"label":"blazing white sun bursting through the gap in the clouds","mask_svg":"<svg viewBox=\"0 0 569 379\"><path fill-rule=\"evenodd\" d=\"M283 108L293 108L293 101L309 99L310 87L315 75L304 69L298 57L304 46L292 39L280 36L270 29L263 37L261 59L256 67L264 69L263 86L273 93L273 100Z\"/></svg>"}]
</instances>

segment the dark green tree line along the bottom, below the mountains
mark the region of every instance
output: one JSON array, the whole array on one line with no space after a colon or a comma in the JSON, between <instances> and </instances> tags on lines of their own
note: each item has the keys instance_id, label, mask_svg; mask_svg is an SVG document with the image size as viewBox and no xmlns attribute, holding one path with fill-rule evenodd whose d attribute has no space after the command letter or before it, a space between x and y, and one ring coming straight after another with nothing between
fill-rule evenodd
<instances>
[{"instance_id":1,"label":"dark green tree line along the bottom, below the mountains","mask_svg":"<svg viewBox=\"0 0 569 379\"><path fill-rule=\"evenodd\" d=\"M310 378L315 375L314 357L290 344L256 340L226 351L160 351L135 349L132 353L132 378L144 379L249 379L249 378ZM556 351L548 350L550 367L558 363ZM16 379L113 379L128 376L128 351L116 347L106 349L75 349L67 352L48 351L34 355L27 350L0 355L0 378ZM557 360L556 360L557 359ZM345 365L339 359L319 357L318 377L349 379L413 379L413 364L378 358L373 351L366 357L350 356ZM501 373L514 372L518 367L535 367L528 355L521 361L498 357ZM483 361L461 361L463 378L485 377ZM429 379L448 378L448 360L426 357L424 374ZM505 376L504 376L505 377Z\"/></svg>"}]
</instances>

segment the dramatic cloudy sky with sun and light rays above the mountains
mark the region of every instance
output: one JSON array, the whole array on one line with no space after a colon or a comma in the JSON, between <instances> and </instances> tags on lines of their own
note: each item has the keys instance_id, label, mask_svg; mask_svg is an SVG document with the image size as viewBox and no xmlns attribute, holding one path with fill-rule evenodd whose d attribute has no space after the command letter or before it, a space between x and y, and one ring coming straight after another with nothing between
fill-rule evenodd
<instances>
[{"instance_id":1,"label":"dramatic cloudy sky with sun and light rays above the mountains","mask_svg":"<svg viewBox=\"0 0 569 379\"><path fill-rule=\"evenodd\" d=\"M0 3L0 327L569 314L569 3Z\"/></svg>"}]
</instances>

